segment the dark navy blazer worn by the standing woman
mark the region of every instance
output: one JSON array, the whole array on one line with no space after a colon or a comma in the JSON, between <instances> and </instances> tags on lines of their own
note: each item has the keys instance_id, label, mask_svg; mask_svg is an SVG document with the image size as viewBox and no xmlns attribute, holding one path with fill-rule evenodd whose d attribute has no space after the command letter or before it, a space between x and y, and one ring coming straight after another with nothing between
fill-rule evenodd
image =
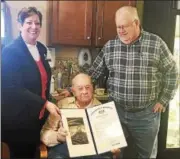
<instances>
[{"instance_id":1,"label":"dark navy blazer worn by the standing woman","mask_svg":"<svg viewBox=\"0 0 180 159\"><path fill-rule=\"evenodd\" d=\"M51 69L46 60L46 47L37 42L41 60L48 75L46 97L49 98ZM46 100L41 97L39 69L22 37L2 50L1 56L1 121L2 130L39 131L48 112L40 120Z\"/></svg>"}]
</instances>

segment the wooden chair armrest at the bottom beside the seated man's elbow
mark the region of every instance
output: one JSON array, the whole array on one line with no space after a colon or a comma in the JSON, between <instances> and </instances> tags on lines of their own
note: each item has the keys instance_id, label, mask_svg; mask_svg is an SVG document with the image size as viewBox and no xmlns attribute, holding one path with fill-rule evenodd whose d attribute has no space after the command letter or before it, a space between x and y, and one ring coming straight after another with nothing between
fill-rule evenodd
<instances>
[{"instance_id":1,"label":"wooden chair armrest at the bottom beside the seated man's elbow","mask_svg":"<svg viewBox=\"0 0 180 159\"><path fill-rule=\"evenodd\" d=\"M47 159L48 150L45 144L40 143L40 145L37 147L36 157L40 159Z\"/></svg>"}]
</instances>

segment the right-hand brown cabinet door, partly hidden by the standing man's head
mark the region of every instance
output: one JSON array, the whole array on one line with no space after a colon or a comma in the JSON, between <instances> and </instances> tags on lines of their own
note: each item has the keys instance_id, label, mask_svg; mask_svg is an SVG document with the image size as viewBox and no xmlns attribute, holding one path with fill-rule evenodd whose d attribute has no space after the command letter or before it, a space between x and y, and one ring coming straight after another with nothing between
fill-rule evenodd
<instances>
[{"instance_id":1,"label":"right-hand brown cabinet door, partly hidden by the standing man's head","mask_svg":"<svg viewBox=\"0 0 180 159\"><path fill-rule=\"evenodd\" d=\"M97 1L95 45L103 46L117 35L115 25L116 11L125 5L135 6L135 0Z\"/></svg>"}]
</instances>

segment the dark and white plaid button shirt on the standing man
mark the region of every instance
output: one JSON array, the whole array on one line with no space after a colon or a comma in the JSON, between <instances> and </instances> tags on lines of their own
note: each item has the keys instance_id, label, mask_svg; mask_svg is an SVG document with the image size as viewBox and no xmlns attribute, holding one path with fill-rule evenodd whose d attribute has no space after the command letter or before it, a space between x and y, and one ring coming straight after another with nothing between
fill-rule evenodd
<instances>
[{"instance_id":1,"label":"dark and white plaid button shirt on the standing man","mask_svg":"<svg viewBox=\"0 0 180 159\"><path fill-rule=\"evenodd\" d=\"M110 99L125 110L142 109L157 101L166 106L177 87L177 68L165 42L142 30L131 45L110 40L95 59L89 74L97 79L109 70Z\"/></svg>"}]
</instances>

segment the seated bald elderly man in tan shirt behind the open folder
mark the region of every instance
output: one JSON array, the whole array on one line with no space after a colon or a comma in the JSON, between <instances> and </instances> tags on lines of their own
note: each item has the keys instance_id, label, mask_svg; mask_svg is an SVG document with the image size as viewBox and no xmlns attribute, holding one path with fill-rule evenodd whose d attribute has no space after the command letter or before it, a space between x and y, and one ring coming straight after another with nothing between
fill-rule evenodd
<instances>
[{"instance_id":1,"label":"seated bald elderly man in tan shirt behind the open folder","mask_svg":"<svg viewBox=\"0 0 180 159\"><path fill-rule=\"evenodd\" d=\"M101 104L93 97L93 86L91 77L80 73L72 80L72 92L74 97L67 97L58 102L59 108L86 108ZM67 131L63 128L61 118L49 116L41 130L41 141L48 146L48 158L69 158L66 144ZM98 156L86 156L85 158L101 157L114 158L119 149L112 150L112 153L104 153ZM112 155L113 154L113 155Z\"/></svg>"}]
</instances>

